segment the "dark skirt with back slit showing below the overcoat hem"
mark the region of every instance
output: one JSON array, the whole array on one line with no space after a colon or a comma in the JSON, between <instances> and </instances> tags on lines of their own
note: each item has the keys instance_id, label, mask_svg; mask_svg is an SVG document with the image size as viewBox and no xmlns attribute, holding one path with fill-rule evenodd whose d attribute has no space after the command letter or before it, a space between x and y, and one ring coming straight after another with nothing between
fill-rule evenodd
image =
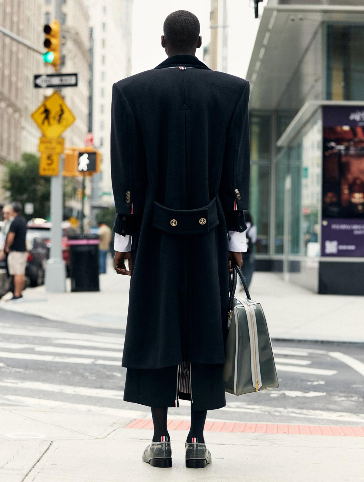
<instances>
[{"instance_id":1,"label":"dark skirt with back slit showing below the overcoat hem","mask_svg":"<svg viewBox=\"0 0 364 482\"><path fill-rule=\"evenodd\" d=\"M193 410L226 405L222 364L183 362L155 370L127 368L124 401L148 407L178 407L190 400Z\"/></svg>"}]
</instances>

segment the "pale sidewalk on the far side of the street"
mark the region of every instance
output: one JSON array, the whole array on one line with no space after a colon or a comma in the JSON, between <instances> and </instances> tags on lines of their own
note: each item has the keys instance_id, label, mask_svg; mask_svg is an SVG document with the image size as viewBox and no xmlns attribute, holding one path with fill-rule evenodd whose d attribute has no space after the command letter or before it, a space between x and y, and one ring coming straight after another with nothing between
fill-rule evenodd
<instances>
[{"instance_id":1,"label":"pale sidewalk on the far side of the street","mask_svg":"<svg viewBox=\"0 0 364 482\"><path fill-rule=\"evenodd\" d=\"M27 289L24 302L1 300L0 307L58 321L125 328L129 282L109 263L98 293L50 294L41 286ZM250 294L262 304L272 338L364 343L364 296L317 295L271 272L254 274Z\"/></svg>"}]
</instances>

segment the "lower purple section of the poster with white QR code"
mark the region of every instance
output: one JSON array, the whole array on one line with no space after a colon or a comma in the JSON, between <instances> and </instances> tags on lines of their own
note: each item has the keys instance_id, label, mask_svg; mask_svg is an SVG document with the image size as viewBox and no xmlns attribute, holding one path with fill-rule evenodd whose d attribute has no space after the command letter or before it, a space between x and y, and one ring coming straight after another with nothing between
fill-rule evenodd
<instances>
[{"instance_id":1,"label":"lower purple section of the poster with white QR code","mask_svg":"<svg viewBox=\"0 0 364 482\"><path fill-rule=\"evenodd\" d=\"M325 218L322 256L364 256L364 219Z\"/></svg>"}]
</instances>

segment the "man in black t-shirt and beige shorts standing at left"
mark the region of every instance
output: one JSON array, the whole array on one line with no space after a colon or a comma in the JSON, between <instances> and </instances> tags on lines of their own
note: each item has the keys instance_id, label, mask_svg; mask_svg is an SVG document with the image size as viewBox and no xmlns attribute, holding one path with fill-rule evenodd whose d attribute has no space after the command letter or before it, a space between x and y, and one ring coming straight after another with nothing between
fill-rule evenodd
<instances>
[{"instance_id":1,"label":"man in black t-shirt and beige shorts standing at left","mask_svg":"<svg viewBox=\"0 0 364 482\"><path fill-rule=\"evenodd\" d=\"M9 274L14 280L14 295L12 300L19 301L23 298L22 292L25 284L25 268L27 266L27 222L20 214L22 206L20 202L13 202L14 220L10 225L8 235L6 237L5 249L8 251L8 268Z\"/></svg>"}]
</instances>

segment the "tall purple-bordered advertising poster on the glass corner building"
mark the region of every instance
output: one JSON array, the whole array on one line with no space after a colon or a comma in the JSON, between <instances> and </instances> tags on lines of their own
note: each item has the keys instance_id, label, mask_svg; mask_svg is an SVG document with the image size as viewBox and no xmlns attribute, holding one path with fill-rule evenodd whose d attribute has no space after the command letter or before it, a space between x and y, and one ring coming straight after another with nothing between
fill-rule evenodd
<instances>
[{"instance_id":1,"label":"tall purple-bordered advertising poster on the glass corner building","mask_svg":"<svg viewBox=\"0 0 364 482\"><path fill-rule=\"evenodd\" d=\"M322 256L364 256L364 106L323 107Z\"/></svg>"}]
</instances>

